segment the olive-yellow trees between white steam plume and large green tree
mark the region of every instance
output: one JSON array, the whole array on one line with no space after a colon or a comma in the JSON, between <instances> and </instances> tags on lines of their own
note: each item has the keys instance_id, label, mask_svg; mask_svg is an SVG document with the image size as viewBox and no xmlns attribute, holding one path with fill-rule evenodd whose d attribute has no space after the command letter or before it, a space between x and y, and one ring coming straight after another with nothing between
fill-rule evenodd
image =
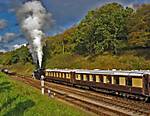
<instances>
[{"instance_id":1,"label":"olive-yellow trees between white steam plume and large green tree","mask_svg":"<svg viewBox=\"0 0 150 116\"><path fill-rule=\"evenodd\" d=\"M44 55L51 56L53 54L63 54L65 52L72 53L74 50L74 40L72 38L76 27L72 27L62 34L58 34L54 37L49 37L46 40L44 47ZM45 56L45 57L46 57Z\"/></svg>"}]
</instances>

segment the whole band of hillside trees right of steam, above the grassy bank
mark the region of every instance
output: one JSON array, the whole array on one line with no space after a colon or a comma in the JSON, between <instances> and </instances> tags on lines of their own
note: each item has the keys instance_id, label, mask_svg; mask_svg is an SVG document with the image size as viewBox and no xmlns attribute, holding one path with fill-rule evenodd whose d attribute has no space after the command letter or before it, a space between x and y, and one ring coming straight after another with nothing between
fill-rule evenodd
<instances>
[{"instance_id":1,"label":"whole band of hillside trees right of steam, above the grassy bank","mask_svg":"<svg viewBox=\"0 0 150 116\"><path fill-rule=\"evenodd\" d=\"M49 37L46 54L116 54L130 47L150 46L150 4L134 10L118 3L91 10L81 22L62 34Z\"/></svg>"}]
</instances>

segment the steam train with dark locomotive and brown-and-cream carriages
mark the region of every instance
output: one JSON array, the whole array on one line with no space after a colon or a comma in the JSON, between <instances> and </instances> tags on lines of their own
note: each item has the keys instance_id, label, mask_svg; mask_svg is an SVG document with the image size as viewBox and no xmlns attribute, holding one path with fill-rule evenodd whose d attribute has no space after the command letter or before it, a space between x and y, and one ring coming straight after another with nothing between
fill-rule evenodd
<instances>
[{"instance_id":1,"label":"steam train with dark locomotive and brown-and-cream carriages","mask_svg":"<svg viewBox=\"0 0 150 116\"><path fill-rule=\"evenodd\" d=\"M150 71L40 69L46 81L86 87L122 97L150 102Z\"/></svg>"}]
</instances>

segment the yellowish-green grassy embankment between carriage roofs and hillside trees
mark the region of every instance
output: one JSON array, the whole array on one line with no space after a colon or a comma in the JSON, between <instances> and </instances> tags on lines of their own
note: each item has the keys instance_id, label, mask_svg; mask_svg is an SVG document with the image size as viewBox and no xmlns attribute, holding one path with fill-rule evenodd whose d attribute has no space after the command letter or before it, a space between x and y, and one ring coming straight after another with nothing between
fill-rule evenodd
<instances>
[{"instance_id":1,"label":"yellowish-green grassy embankment between carriage roofs and hillside trees","mask_svg":"<svg viewBox=\"0 0 150 116\"><path fill-rule=\"evenodd\" d=\"M59 54L46 60L46 68L81 69L150 69L150 50L128 51L120 55L103 54L84 57L81 55Z\"/></svg>"}]
</instances>

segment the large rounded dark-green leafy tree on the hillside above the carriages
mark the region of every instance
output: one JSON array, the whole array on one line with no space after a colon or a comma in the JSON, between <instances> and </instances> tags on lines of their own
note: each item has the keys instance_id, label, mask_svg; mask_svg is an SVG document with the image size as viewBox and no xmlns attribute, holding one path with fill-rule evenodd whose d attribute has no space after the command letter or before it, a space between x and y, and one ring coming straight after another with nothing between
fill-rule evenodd
<instances>
[{"instance_id":1,"label":"large rounded dark-green leafy tree on the hillside above the carriages","mask_svg":"<svg viewBox=\"0 0 150 116\"><path fill-rule=\"evenodd\" d=\"M127 41L126 20L133 10L111 3L88 12L74 34L79 54L116 53Z\"/></svg>"}]
</instances>

